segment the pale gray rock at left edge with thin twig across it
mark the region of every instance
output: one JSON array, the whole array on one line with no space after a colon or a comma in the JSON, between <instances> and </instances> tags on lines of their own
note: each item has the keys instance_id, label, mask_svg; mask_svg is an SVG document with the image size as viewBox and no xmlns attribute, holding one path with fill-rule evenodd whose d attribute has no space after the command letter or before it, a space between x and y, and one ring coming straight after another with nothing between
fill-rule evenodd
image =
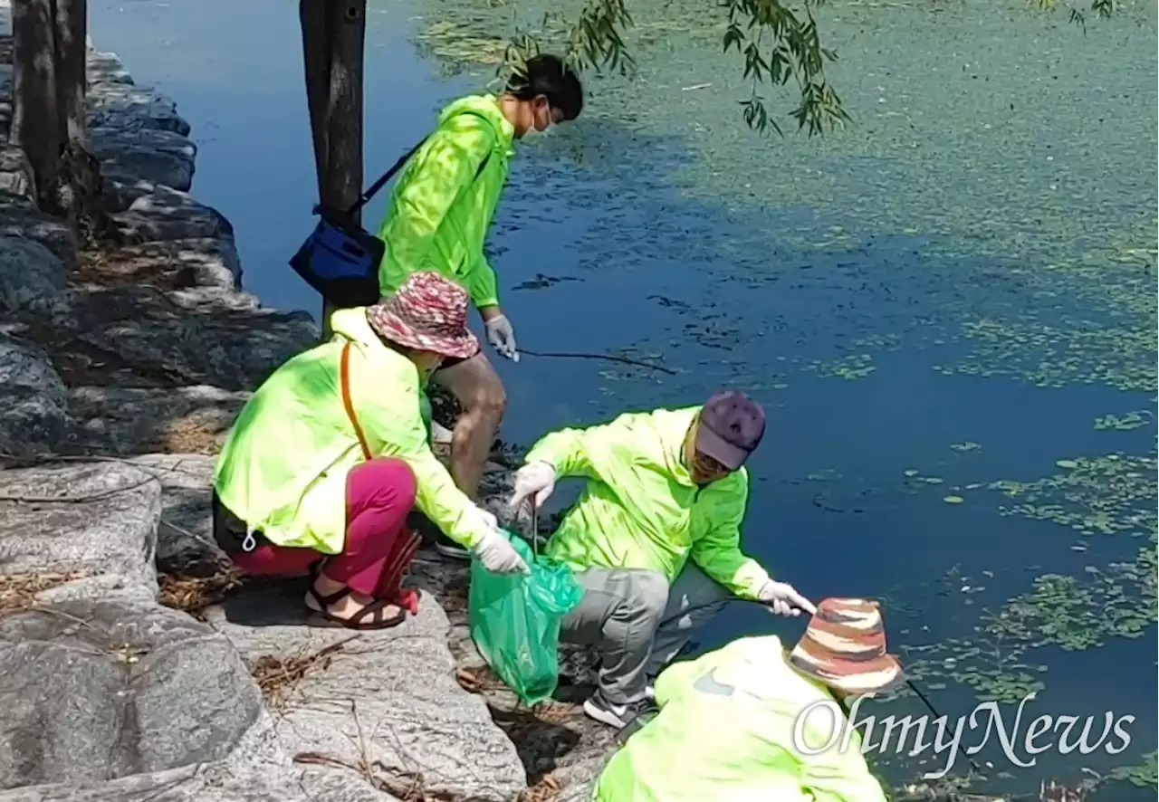
<instances>
[{"instance_id":1,"label":"pale gray rock at left edge with thin twig across it","mask_svg":"<svg viewBox=\"0 0 1159 802\"><path fill-rule=\"evenodd\" d=\"M156 597L161 484L121 462L0 471L0 575L76 574L44 599Z\"/></svg>"}]
</instances>

